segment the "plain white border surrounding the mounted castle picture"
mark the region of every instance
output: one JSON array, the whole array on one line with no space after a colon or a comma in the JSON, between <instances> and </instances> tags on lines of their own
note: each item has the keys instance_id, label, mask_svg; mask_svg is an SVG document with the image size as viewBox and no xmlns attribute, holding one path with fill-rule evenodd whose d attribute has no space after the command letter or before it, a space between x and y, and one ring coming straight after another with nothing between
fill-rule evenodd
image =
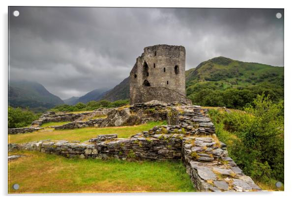
<instances>
[{"instance_id":1,"label":"plain white border surrounding the mounted castle picture","mask_svg":"<svg viewBox=\"0 0 296 200\"><path fill-rule=\"evenodd\" d=\"M22 199L50 199L53 198L65 198L70 196L71 199L81 199L86 194L64 194L60 197L57 195L7 195L7 6L106 6L106 7L226 7L226 8L284 8L285 9L285 192L268 192L268 193L141 193L141 194L88 194L87 198L108 198L108 199L154 199L154 198L169 198L169 199L247 199L250 198L264 198L264 199L282 199L293 198L294 186L295 186L295 150L292 148L295 146L295 135L294 130L294 118L295 115L295 75L296 75L296 7L293 6L293 1L283 0L202 0L202 1L190 1L190 0L9 0L0 1L1 3L1 41L3 44L0 49L1 53L1 103L0 103L0 125L1 125L1 195L4 198L10 197L22 198ZM54 197L53 197L54 196ZM99 197L93 197L99 196ZM108 196L108 197L106 197ZM294 199L294 198L293 198Z\"/></svg>"}]
</instances>

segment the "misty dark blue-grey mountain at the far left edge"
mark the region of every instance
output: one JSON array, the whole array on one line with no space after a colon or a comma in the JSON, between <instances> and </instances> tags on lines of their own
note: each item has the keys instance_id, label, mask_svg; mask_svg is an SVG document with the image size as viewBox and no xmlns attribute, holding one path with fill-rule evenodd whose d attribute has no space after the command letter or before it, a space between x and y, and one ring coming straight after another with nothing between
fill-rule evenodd
<instances>
[{"instance_id":1,"label":"misty dark blue-grey mountain at the far left edge","mask_svg":"<svg viewBox=\"0 0 296 200\"><path fill-rule=\"evenodd\" d=\"M45 87L32 81L10 81L8 85L8 105L30 107L40 110L49 109L64 102L48 92Z\"/></svg>"}]
</instances>

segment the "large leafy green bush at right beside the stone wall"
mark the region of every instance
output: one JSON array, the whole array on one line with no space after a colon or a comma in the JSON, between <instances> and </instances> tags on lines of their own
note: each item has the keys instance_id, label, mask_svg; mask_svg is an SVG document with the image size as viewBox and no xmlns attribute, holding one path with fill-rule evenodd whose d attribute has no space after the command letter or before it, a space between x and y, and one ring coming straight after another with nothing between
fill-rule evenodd
<instances>
[{"instance_id":1,"label":"large leafy green bush at right beside the stone wall","mask_svg":"<svg viewBox=\"0 0 296 200\"><path fill-rule=\"evenodd\" d=\"M284 107L258 95L244 111L210 110L218 138L246 175L284 182Z\"/></svg>"}]
</instances>

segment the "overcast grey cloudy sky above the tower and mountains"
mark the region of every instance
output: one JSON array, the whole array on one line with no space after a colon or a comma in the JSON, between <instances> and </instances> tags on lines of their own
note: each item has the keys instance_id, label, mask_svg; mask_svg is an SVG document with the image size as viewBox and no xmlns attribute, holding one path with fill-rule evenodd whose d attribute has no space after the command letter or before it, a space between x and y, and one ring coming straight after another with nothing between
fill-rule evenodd
<instances>
[{"instance_id":1,"label":"overcast grey cloudy sky above the tower and mountains","mask_svg":"<svg viewBox=\"0 0 296 200\"><path fill-rule=\"evenodd\" d=\"M20 15L13 16L18 10ZM216 56L284 66L283 9L10 7L10 78L61 99L111 89L144 47L186 49L186 69Z\"/></svg>"}]
</instances>

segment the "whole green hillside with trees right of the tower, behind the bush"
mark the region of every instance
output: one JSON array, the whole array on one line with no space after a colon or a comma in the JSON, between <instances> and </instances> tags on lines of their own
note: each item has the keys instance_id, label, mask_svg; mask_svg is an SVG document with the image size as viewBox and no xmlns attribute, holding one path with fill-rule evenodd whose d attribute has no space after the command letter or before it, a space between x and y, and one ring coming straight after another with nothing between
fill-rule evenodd
<instances>
[{"instance_id":1,"label":"whole green hillside with trees right of the tower, behind the bush","mask_svg":"<svg viewBox=\"0 0 296 200\"><path fill-rule=\"evenodd\" d=\"M186 93L194 104L240 108L257 94L284 99L284 67L216 57L186 71Z\"/></svg>"}]
</instances>

